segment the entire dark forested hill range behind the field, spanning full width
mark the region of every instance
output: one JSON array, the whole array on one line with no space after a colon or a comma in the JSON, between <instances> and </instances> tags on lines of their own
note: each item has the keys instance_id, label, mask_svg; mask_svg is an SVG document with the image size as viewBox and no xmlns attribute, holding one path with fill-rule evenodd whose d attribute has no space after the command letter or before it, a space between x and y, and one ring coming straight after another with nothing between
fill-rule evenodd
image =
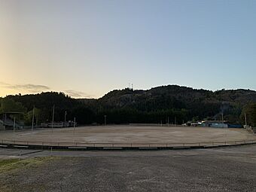
<instances>
[{"instance_id":1,"label":"entire dark forested hill range behind the field, spanning full width","mask_svg":"<svg viewBox=\"0 0 256 192\"><path fill-rule=\"evenodd\" d=\"M99 99L72 99L63 93L16 95L5 99L20 102L26 113L35 105L41 113L41 121L50 119L55 105L56 120L62 120L67 111L68 118L77 117L78 123L103 123L104 115L107 115L108 123L166 123L168 117L169 123L183 123L187 120L220 120L222 113L232 123L244 123L242 114L250 103L256 102L256 92L213 92L169 85L151 90L113 90Z\"/></svg>"}]
</instances>

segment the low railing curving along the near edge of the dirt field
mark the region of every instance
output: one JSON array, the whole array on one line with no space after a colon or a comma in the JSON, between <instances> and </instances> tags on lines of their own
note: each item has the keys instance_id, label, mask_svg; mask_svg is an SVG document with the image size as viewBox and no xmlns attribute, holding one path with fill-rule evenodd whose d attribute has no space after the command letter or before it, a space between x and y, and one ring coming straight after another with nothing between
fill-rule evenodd
<instances>
[{"instance_id":1,"label":"low railing curving along the near edge of the dirt field","mask_svg":"<svg viewBox=\"0 0 256 192\"><path fill-rule=\"evenodd\" d=\"M13 148L23 146L24 148L40 149L177 149L177 148L215 148L233 145L256 144L256 140L240 140L228 142L187 142L187 143L108 143L108 142L32 142L16 140L0 140L2 146ZM1 146L0 146L1 147Z\"/></svg>"}]
</instances>

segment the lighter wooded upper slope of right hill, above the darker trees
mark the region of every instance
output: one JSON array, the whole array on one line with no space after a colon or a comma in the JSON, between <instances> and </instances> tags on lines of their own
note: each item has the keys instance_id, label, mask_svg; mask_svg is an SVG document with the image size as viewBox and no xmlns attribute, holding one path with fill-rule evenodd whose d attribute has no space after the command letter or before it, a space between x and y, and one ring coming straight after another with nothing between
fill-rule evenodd
<instances>
[{"instance_id":1,"label":"lighter wooded upper slope of right hill, above the darker trees","mask_svg":"<svg viewBox=\"0 0 256 192\"><path fill-rule=\"evenodd\" d=\"M256 91L253 90L195 90L190 87L168 85L151 90L113 90L98 99L104 105L114 108L134 106L143 111L154 111L166 108L191 108L194 104L245 105L256 102Z\"/></svg>"}]
</instances>

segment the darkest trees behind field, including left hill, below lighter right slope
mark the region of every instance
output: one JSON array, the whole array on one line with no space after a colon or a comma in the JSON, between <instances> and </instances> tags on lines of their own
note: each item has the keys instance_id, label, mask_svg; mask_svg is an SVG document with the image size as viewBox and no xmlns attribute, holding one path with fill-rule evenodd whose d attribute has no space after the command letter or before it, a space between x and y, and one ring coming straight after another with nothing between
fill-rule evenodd
<instances>
[{"instance_id":1,"label":"darkest trees behind field, including left hill, below lighter right slope","mask_svg":"<svg viewBox=\"0 0 256 192\"><path fill-rule=\"evenodd\" d=\"M209 94L209 93L208 93ZM65 93L47 92L32 95L15 95L0 98L0 114L21 112L17 119L26 125L32 123L34 108L35 123L51 122L53 105L55 121L76 120L79 124L104 123L186 123L188 120L221 120L221 111L225 120L231 123L256 126L256 102L246 105L234 103L226 108L223 102L203 102L202 99L183 102L173 96L157 94L141 96L133 90L113 92L101 99L73 99ZM200 97L199 97L200 98Z\"/></svg>"}]
</instances>

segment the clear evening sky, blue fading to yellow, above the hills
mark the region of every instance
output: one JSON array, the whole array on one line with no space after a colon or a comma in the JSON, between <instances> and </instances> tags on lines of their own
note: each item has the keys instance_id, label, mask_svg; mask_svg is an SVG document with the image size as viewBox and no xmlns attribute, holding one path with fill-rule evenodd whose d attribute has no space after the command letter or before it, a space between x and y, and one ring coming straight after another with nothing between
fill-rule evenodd
<instances>
[{"instance_id":1,"label":"clear evening sky, blue fading to yellow, above the hills","mask_svg":"<svg viewBox=\"0 0 256 192\"><path fill-rule=\"evenodd\" d=\"M0 0L0 96L256 90L256 1Z\"/></svg>"}]
</instances>

